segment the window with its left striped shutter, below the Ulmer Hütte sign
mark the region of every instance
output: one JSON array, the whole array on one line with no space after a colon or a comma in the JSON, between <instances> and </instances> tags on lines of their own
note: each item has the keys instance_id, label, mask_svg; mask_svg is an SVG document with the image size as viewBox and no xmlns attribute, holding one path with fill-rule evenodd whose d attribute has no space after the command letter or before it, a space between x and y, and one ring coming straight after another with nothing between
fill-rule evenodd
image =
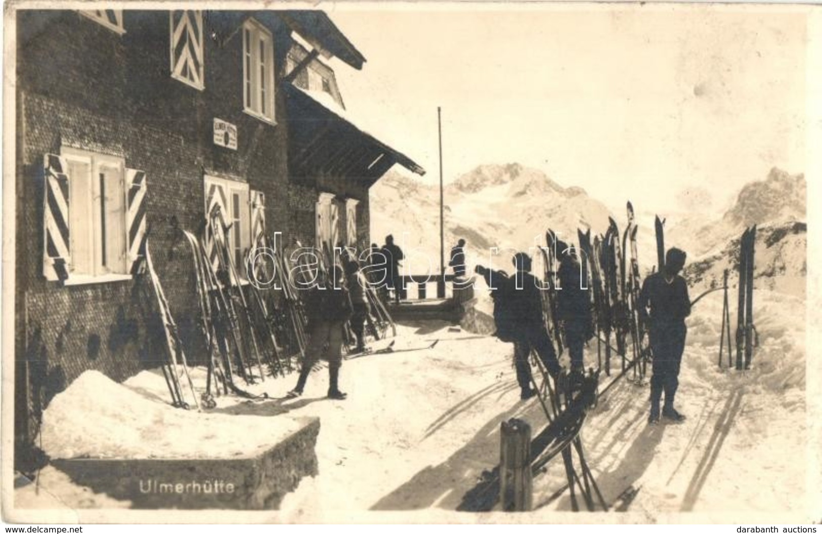
<instances>
[{"instance_id":1,"label":"window with its left striped shutter, below the Ulmer H\u00fctte sign","mask_svg":"<svg viewBox=\"0 0 822 534\"><path fill-rule=\"evenodd\" d=\"M211 225L210 214L215 207L219 207L219 212L223 217L224 226L228 227L225 232L227 238L226 246L234 262L234 268L238 274L245 272L245 254L251 246L252 225L251 209L249 203L248 184L237 182L223 177L205 176L205 218ZM215 228L211 228L213 232ZM206 239L206 249L212 249L213 243ZM209 250L209 254L213 257Z\"/></svg>"}]
</instances>

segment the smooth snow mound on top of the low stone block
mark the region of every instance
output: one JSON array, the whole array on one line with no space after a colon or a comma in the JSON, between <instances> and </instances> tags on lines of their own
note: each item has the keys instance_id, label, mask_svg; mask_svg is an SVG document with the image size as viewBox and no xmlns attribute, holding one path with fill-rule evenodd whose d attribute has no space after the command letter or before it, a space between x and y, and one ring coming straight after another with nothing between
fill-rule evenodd
<instances>
[{"instance_id":1,"label":"smooth snow mound on top of the low stone block","mask_svg":"<svg viewBox=\"0 0 822 534\"><path fill-rule=\"evenodd\" d=\"M51 458L235 458L269 447L297 427L288 417L174 408L164 398L86 371L48 405L41 437Z\"/></svg>"}]
</instances>

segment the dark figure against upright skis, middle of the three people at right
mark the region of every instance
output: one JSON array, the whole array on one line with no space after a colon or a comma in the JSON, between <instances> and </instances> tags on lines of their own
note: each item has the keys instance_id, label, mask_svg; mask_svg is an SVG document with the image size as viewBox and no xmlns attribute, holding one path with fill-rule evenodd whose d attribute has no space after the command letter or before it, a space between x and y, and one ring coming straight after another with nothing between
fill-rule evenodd
<instances>
[{"instance_id":1,"label":"dark figure against upright skis, middle of the three people at right","mask_svg":"<svg viewBox=\"0 0 822 534\"><path fill-rule=\"evenodd\" d=\"M575 249L567 248L562 253L557 292L557 318L563 325L570 352L571 371L584 371L583 348L593 335L591 329L591 301L582 280L582 267L575 258ZM585 281L587 283L587 280Z\"/></svg>"}]
</instances>

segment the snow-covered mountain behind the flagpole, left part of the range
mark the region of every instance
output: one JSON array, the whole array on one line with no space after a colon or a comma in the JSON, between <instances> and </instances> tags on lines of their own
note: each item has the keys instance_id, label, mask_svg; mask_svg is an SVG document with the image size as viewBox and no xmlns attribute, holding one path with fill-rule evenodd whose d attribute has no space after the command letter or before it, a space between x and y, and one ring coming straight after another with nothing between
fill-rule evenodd
<instances>
[{"instance_id":1,"label":"snow-covered mountain behind the flagpole, left part of the range","mask_svg":"<svg viewBox=\"0 0 822 534\"><path fill-rule=\"evenodd\" d=\"M563 187L519 163L474 168L446 186L446 255L464 238L469 265L491 262L492 247L527 250L544 246L545 231L576 241L577 228L607 228L608 209L580 187ZM439 263L439 190L398 173L387 173L371 190L372 236L392 233L404 250ZM505 251L501 255L508 255ZM409 256L406 253L406 256ZM409 258L411 269L421 272ZM447 258L446 258L447 262ZM507 260L494 264L505 268ZM409 261L405 262L409 267ZM505 264L505 265L504 265Z\"/></svg>"}]
</instances>

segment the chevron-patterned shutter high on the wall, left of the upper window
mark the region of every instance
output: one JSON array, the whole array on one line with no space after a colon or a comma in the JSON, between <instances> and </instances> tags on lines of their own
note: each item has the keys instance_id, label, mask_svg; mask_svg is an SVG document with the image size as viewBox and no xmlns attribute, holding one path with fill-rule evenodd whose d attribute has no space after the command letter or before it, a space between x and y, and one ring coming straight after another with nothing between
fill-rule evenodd
<instances>
[{"instance_id":1,"label":"chevron-patterned shutter high on the wall, left of the upper window","mask_svg":"<svg viewBox=\"0 0 822 534\"><path fill-rule=\"evenodd\" d=\"M169 12L171 77L202 90L203 18L202 12Z\"/></svg>"}]
</instances>

